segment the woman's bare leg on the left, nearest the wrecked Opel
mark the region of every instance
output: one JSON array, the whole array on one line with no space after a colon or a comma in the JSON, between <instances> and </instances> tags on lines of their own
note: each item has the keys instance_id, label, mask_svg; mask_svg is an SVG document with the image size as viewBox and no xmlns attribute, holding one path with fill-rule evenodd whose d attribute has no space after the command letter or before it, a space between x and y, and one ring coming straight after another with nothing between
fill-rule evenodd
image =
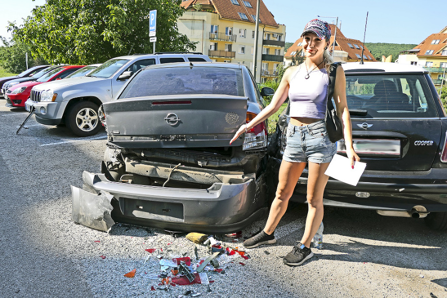
<instances>
[{"instance_id":1,"label":"woman's bare leg on the left, nearest the wrecked Opel","mask_svg":"<svg viewBox=\"0 0 447 298\"><path fill-rule=\"evenodd\" d=\"M281 217L287 210L289 199L292 197L298 178L301 176L302 170L306 163L294 163L282 161L279 170L279 183L276 190L276 197L270 207L269 218L264 227L264 232L271 235L278 225ZM326 176L327 177L327 176ZM326 180L327 181L327 180ZM315 230L316 232L316 230ZM313 236L312 236L313 237Z\"/></svg>"}]
</instances>

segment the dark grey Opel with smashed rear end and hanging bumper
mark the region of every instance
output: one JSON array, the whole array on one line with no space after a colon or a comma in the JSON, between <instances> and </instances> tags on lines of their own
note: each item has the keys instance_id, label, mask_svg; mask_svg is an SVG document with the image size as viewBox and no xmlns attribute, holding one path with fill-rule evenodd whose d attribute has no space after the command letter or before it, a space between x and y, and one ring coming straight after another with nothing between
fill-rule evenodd
<instances>
[{"instance_id":1,"label":"dark grey Opel with smashed rear end and hanging bumper","mask_svg":"<svg viewBox=\"0 0 447 298\"><path fill-rule=\"evenodd\" d=\"M141 70L99 110L108 137L101 173L84 172L84 190L72 186L72 218L107 230L113 221L101 214L113 206L111 216L120 222L240 231L268 210L267 125L229 141L262 110L261 95L271 94L270 88L260 93L240 64Z\"/></svg>"}]
</instances>

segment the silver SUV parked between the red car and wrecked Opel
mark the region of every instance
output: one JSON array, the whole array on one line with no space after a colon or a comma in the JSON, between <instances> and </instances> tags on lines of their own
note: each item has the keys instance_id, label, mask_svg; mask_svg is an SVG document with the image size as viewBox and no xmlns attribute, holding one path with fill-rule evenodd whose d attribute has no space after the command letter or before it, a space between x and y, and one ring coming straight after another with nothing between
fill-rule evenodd
<instances>
[{"instance_id":1,"label":"silver SUV parked between the red car and wrecked Opel","mask_svg":"<svg viewBox=\"0 0 447 298\"><path fill-rule=\"evenodd\" d=\"M28 111L35 109L39 123L65 123L78 136L94 135L101 128L99 106L116 96L134 73L148 65L185 61L211 59L202 53L155 53L113 58L88 76L36 86L25 108Z\"/></svg>"}]
</instances>

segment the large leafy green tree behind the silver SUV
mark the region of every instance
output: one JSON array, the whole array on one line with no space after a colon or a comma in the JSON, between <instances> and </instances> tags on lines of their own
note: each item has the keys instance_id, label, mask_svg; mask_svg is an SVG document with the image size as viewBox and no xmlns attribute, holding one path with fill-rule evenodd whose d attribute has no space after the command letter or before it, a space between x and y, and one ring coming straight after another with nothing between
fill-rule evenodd
<instances>
[{"instance_id":1,"label":"large leafy green tree behind the silver SUV","mask_svg":"<svg viewBox=\"0 0 447 298\"><path fill-rule=\"evenodd\" d=\"M149 11L157 10L156 51L195 50L180 34L181 0L47 0L23 26L10 23L13 36L34 57L53 63L101 63L128 53L152 53Z\"/></svg>"}]
</instances>

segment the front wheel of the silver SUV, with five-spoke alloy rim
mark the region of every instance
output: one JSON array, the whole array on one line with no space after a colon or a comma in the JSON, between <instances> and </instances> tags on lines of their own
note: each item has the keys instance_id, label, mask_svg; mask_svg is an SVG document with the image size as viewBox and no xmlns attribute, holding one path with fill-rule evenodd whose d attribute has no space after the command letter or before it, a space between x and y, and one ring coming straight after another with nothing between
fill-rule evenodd
<instances>
[{"instance_id":1,"label":"front wheel of the silver SUV, with five-spoke alloy rim","mask_svg":"<svg viewBox=\"0 0 447 298\"><path fill-rule=\"evenodd\" d=\"M91 101L77 102L68 111L67 126L80 137L96 134L101 128L98 108L99 106Z\"/></svg>"}]
</instances>

